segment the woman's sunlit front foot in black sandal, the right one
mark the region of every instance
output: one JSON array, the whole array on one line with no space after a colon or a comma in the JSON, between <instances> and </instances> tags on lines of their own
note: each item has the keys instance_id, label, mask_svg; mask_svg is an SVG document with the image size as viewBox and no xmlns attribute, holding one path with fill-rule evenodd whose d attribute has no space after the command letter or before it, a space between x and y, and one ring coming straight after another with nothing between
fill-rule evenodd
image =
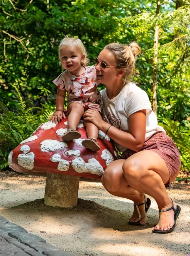
<instances>
[{"instance_id":1,"label":"woman's sunlit front foot in black sandal, the right one","mask_svg":"<svg viewBox=\"0 0 190 256\"><path fill-rule=\"evenodd\" d=\"M176 204L175 202L173 202L172 204L172 201L166 205L165 207L163 207L161 210L166 210L166 209L169 209L172 207L172 205L174 206L174 208L176 209ZM161 213L159 213L161 214ZM167 231L167 230L170 230L173 225L175 224L175 221L174 221L174 211L173 210L170 210L170 211L164 211L162 212L162 217L161 217L161 223L160 223L160 226L159 226L159 222L158 224L154 227L154 230L160 230L160 231Z\"/></svg>"}]
</instances>

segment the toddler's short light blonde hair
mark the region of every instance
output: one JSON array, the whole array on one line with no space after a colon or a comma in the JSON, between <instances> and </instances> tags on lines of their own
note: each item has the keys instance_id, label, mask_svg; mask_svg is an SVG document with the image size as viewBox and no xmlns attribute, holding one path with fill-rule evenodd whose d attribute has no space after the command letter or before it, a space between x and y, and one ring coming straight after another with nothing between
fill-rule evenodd
<instances>
[{"instance_id":1,"label":"toddler's short light blonde hair","mask_svg":"<svg viewBox=\"0 0 190 256\"><path fill-rule=\"evenodd\" d=\"M66 36L59 44L59 59L61 59L60 56L60 50L65 49L66 47L72 47L75 46L80 52L81 54L85 55L85 58L82 62L82 65L86 66L87 64L89 64L90 60L87 58L87 52L86 52L86 48L83 45L82 41L79 38L74 38L74 37L68 37Z\"/></svg>"}]
</instances>

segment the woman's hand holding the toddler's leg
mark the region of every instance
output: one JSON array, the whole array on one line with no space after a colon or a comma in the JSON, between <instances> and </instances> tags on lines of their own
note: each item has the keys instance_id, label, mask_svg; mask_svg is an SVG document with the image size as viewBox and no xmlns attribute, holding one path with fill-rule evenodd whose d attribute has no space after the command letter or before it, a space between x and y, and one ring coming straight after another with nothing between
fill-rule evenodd
<instances>
[{"instance_id":1,"label":"woman's hand holding the toddler's leg","mask_svg":"<svg viewBox=\"0 0 190 256\"><path fill-rule=\"evenodd\" d=\"M84 120L92 122L99 130L102 130L104 121L97 110L88 109L84 115Z\"/></svg>"}]
</instances>

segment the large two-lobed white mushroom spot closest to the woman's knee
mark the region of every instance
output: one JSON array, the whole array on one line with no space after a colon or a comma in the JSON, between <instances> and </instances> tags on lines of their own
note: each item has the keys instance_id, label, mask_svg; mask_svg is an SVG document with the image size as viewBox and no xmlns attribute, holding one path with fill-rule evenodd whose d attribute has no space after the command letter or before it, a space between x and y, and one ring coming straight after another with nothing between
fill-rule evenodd
<instances>
[{"instance_id":1,"label":"large two-lobed white mushroom spot closest to the woman's knee","mask_svg":"<svg viewBox=\"0 0 190 256\"><path fill-rule=\"evenodd\" d=\"M103 167L95 158L89 159L88 163L85 163L81 157L75 158L72 161L72 167L78 173L91 173L99 176L103 173Z\"/></svg>"}]
</instances>

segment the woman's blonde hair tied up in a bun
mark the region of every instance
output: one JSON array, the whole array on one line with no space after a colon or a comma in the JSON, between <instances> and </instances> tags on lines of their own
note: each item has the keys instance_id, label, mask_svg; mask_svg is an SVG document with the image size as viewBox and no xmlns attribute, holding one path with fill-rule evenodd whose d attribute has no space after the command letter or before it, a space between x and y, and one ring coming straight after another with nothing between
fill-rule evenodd
<instances>
[{"instance_id":1,"label":"woman's blonde hair tied up in a bun","mask_svg":"<svg viewBox=\"0 0 190 256\"><path fill-rule=\"evenodd\" d=\"M111 43L106 45L104 49L111 51L117 67L125 70L122 76L123 82L130 81L135 70L137 55L140 53L139 45L136 42L129 45Z\"/></svg>"}]
</instances>

